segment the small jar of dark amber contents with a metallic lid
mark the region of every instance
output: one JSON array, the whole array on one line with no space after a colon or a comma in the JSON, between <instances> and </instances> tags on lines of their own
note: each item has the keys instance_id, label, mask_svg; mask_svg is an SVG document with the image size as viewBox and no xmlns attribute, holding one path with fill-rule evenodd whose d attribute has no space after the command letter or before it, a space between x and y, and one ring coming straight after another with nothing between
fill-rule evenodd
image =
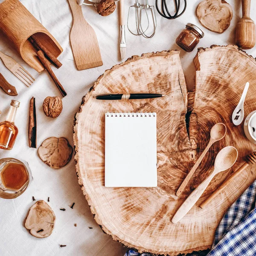
<instances>
[{"instance_id":1,"label":"small jar of dark amber contents with a metallic lid","mask_svg":"<svg viewBox=\"0 0 256 256\"><path fill-rule=\"evenodd\" d=\"M187 23L176 39L176 44L186 52L192 52L199 40L204 37L204 32L192 23Z\"/></svg>"}]
</instances>

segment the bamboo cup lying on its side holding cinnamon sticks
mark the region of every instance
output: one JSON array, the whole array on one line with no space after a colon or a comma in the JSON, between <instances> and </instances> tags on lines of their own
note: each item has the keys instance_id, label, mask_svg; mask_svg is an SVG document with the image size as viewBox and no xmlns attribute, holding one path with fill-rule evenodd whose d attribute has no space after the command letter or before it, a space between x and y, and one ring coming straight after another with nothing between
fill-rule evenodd
<instances>
[{"instance_id":1,"label":"bamboo cup lying on its side holding cinnamon sticks","mask_svg":"<svg viewBox=\"0 0 256 256\"><path fill-rule=\"evenodd\" d=\"M37 58L37 50L28 41L31 35L36 36L55 57L63 52L56 39L19 0L0 3L0 30L9 38L23 60L38 72L43 71L44 66Z\"/></svg>"}]
</instances>

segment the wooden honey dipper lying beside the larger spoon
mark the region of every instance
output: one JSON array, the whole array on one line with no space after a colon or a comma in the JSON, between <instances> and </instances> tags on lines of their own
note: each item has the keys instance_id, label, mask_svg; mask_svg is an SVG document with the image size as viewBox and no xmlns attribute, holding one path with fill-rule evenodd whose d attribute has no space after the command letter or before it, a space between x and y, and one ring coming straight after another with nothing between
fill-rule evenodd
<instances>
[{"instance_id":1,"label":"wooden honey dipper lying beside the larger spoon","mask_svg":"<svg viewBox=\"0 0 256 256\"><path fill-rule=\"evenodd\" d=\"M212 195L210 195L202 204L200 204L201 208L204 208L210 201L212 201L219 194L221 194L221 192L224 191L225 187L228 186L230 183L233 183L236 177L238 177L245 168L247 168L249 165L254 165L256 163L256 151L247 155L245 161L246 162L236 172L234 172L233 175L225 180L224 183L222 183L221 186L212 193Z\"/></svg>"}]
</instances>

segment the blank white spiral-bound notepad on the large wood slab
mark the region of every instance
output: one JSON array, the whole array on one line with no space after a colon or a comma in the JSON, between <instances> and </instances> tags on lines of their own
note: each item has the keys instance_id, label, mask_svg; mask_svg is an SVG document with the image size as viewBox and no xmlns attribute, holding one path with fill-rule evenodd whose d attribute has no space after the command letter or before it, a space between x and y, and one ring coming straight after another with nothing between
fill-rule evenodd
<instances>
[{"instance_id":1,"label":"blank white spiral-bound notepad on the large wood slab","mask_svg":"<svg viewBox=\"0 0 256 256\"><path fill-rule=\"evenodd\" d=\"M156 113L105 114L105 186L157 186Z\"/></svg>"}]
</instances>

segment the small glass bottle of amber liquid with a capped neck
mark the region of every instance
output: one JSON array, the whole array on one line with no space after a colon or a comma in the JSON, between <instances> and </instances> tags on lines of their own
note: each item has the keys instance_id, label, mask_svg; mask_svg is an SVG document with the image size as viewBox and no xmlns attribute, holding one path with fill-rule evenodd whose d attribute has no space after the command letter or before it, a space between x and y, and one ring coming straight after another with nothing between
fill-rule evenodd
<instances>
[{"instance_id":1,"label":"small glass bottle of amber liquid with a capped neck","mask_svg":"<svg viewBox=\"0 0 256 256\"><path fill-rule=\"evenodd\" d=\"M18 128L14 121L19 106L20 102L12 100L6 121L0 123L0 148L2 149L11 150L15 143Z\"/></svg>"}]
</instances>

